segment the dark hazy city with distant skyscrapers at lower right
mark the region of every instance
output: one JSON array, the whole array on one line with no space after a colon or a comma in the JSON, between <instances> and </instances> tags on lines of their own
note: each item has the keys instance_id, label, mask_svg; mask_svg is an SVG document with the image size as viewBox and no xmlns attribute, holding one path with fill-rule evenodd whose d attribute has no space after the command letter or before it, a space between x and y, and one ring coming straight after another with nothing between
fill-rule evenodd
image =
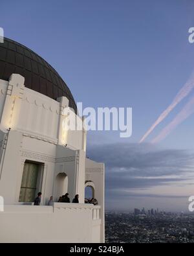
<instances>
[{"instance_id":1,"label":"dark hazy city with distant skyscrapers at lower right","mask_svg":"<svg viewBox=\"0 0 194 256\"><path fill-rule=\"evenodd\" d=\"M193 243L194 215L158 209L105 214L107 243Z\"/></svg>"}]
</instances>

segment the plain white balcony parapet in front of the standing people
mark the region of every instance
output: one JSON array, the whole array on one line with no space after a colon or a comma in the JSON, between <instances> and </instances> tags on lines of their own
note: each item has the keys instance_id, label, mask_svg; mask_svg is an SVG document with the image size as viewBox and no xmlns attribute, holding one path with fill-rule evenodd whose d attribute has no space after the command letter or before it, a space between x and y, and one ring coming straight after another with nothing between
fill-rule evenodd
<instances>
[{"instance_id":1,"label":"plain white balcony parapet in front of the standing people","mask_svg":"<svg viewBox=\"0 0 194 256\"><path fill-rule=\"evenodd\" d=\"M100 206L5 205L0 212L0 242L103 242Z\"/></svg>"}]
</instances>

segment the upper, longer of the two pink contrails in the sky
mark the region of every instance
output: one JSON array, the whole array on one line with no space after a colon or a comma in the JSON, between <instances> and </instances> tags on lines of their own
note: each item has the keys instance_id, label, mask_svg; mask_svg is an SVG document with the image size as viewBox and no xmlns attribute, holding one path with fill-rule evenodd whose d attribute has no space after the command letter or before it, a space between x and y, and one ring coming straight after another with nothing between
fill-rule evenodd
<instances>
[{"instance_id":1,"label":"upper, longer of the two pink contrails in the sky","mask_svg":"<svg viewBox=\"0 0 194 256\"><path fill-rule=\"evenodd\" d=\"M146 132L146 134L144 134L142 139L140 139L140 143L142 143L146 139L146 137L149 134L151 134L151 132L156 128L156 126L160 124L160 122L162 122L167 117L167 115L169 115L169 113L175 108L175 106L177 106L177 104L182 99L184 99L191 92L193 88L194 88L194 72L192 72L191 76L189 77L189 80L186 82L186 84L184 84L182 89L180 89L180 91L177 93L173 102L166 108L166 110L162 112L162 114L158 117L158 119L151 126L151 128L149 128L149 130Z\"/></svg>"}]
</instances>

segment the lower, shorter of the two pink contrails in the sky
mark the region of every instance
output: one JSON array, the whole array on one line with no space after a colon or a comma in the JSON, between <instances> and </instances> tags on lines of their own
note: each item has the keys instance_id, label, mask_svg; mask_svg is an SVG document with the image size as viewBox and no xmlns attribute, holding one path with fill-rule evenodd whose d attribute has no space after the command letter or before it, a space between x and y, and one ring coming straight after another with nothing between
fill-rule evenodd
<instances>
[{"instance_id":1,"label":"lower, shorter of the two pink contrails in the sky","mask_svg":"<svg viewBox=\"0 0 194 256\"><path fill-rule=\"evenodd\" d=\"M184 106L184 108L176 115L176 117L171 121L163 130L160 132L158 136L151 141L151 143L158 143L165 139L167 135L170 134L172 130L174 130L178 124L186 120L189 115L194 112L194 97L189 100L189 102Z\"/></svg>"}]
</instances>

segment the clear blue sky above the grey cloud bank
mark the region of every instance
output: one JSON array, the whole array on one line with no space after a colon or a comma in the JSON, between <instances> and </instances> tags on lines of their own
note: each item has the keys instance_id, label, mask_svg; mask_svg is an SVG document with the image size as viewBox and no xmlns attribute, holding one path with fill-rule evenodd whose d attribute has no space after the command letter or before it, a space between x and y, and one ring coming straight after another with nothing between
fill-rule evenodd
<instances>
[{"instance_id":1,"label":"clear blue sky above the grey cloud bank","mask_svg":"<svg viewBox=\"0 0 194 256\"><path fill-rule=\"evenodd\" d=\"M1 0L0 11L5 36L45 58L76 101L85 107L133 108L131 138L93 133L90 144L92 139L138 142L194 68L194 44L188 42L188 29L194 27L193 0ZM162 148L193 149L193 120L191 115L178 126Z\"/></svg>"}]
</instances>

